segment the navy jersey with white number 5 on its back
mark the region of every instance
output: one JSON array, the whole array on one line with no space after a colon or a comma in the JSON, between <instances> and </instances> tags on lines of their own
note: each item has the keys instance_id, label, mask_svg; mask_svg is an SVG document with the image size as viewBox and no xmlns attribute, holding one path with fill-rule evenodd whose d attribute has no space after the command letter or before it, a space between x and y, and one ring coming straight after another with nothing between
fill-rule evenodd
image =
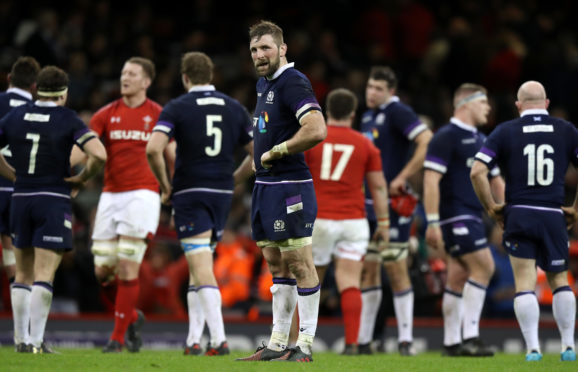
<instances>
[{"instance_id":1,"label":"navy jersey with white number 5 on its back","mask_svg":"<svg viewBox=\"0 0 578 372\"><path fill-rule=\"evenodd\" d=\"M154 132L177 142L173 191L232 190L234 151L251 142L249 113L212 85L193 87L170 101Z\"/></svg>"}]
</instances>

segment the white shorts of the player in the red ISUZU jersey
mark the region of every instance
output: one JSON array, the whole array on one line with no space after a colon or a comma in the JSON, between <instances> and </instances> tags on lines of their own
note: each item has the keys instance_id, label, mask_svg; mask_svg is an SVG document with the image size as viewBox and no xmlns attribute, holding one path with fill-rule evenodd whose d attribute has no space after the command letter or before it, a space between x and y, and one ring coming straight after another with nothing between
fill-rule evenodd
<instances>
[{"instance_id":1,"label":"white shorts of the player in the red ISUZU jersey","mask_svg":"<svg viewBox=\"0 0 578 372\"><path fill-rule=\"evenodd\" d=\"M109 240L119 235L144 239L157 231L160 213L160 195L154 191L103 192L92 239Z\"/></svg>"}]
</instances>

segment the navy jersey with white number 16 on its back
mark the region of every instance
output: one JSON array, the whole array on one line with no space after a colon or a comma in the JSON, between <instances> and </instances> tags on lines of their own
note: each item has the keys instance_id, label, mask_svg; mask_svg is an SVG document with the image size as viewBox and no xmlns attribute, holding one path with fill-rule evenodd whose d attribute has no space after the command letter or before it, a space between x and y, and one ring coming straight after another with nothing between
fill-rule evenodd
<instances>
[{"instance_id":1,"label":"navy jersey with white number 16 on its back","mask_svg":"<svg viewBox=\"0 0 578 372\"><path fill-rule=\"evenodd\" d=\"M506 203L560 208L568 165L578 165L578 132L546 110L526 110L520 118L498 125L476 160L500 166Z\"/></svg>"}]
</instances>

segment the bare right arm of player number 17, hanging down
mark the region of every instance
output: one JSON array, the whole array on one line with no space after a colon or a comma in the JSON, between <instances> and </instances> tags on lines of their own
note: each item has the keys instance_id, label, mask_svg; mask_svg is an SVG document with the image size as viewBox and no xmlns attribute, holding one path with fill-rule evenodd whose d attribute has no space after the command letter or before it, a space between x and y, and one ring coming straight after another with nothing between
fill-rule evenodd
<instances>
[{"instance_id":1,"label":"bare right arm of player number 17, hanging down","mask_svg":"<svg viewBox=\"0 0 578 372\"><path fill-rule=\"evenodd\" d=\"M365 174L367 187L371 192L373 199L373 209L377 216L377 230L372 239L387 243L389 241L389 206L387 204L387 181L383 176L382 170L371 171ZM383 248L384 244L377 244L378 249Z\"/></svg>"}]
</instances>

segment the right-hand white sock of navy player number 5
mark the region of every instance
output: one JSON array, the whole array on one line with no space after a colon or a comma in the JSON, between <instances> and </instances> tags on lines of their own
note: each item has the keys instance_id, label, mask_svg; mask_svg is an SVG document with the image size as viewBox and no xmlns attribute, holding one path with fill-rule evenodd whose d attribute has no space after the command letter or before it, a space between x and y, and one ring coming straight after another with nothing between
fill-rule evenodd
<instances>
[{"instance_id":1,"label":"right-hand white sock of navy player number 5","mask_svg":"<svg viewBox=\"0 0 578 372\"><path fill-rule=\"evenodd\" d=\"M211 346L218 347L226 340L219 287L201 285L197 287L197 295L199 296L207 321L207 328L209 328L209 334L211 335Z\"/></svg>"}]
</instances>

